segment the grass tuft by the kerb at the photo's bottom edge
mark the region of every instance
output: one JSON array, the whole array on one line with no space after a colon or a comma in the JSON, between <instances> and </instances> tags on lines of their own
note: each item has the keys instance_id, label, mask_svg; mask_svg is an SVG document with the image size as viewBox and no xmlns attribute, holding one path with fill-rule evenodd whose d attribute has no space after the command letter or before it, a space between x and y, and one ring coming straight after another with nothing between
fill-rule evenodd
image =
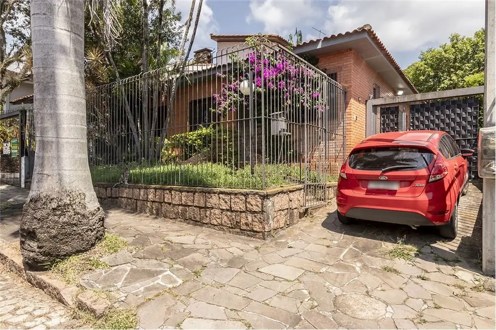
<instances>
[{"instance_id":1,"label":"grass tuft by the kerb at the photo's bottom edge","mask_svg":"<svg viewBox=\"0 0 496 330\"><path fill-rule=\"evenodd\" d=\"M138 326L138 315L134 308L112 308L98 320L91 313L75 309L72 317L95 329L135 329Z\"/></svg>"}]
</instances>

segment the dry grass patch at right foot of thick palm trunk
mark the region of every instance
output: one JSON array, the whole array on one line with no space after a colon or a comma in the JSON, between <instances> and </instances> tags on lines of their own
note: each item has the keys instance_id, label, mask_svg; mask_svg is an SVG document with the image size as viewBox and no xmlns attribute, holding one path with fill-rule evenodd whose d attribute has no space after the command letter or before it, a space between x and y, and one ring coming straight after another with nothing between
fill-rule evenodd
<instances>
[{"instance_id":1,"label":"dry grass patch at right foot of thick palm trunk","mask_svg":"<svg viewBox=\"0 0 496 330\"><path fill-rule=\"evenodd\" d=\"M105 233L103 240L93 250L56 260L45 267L61 276L67 283L78 284L82 275L109 268L107 263L100 261L101 257L124 250L128 246L128 243L119 236Z\"/></svg>"}]
</instances>

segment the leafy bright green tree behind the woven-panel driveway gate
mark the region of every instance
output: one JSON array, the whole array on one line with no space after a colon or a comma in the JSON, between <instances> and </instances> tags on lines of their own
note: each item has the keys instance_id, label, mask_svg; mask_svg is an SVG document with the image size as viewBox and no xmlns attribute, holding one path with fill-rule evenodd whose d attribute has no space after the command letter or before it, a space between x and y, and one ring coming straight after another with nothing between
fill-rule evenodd
<instances>
[{"instance_id":1,"label":"leafy bright green tree behind the woven-panel driveway gate","mask_svg":"<svg viewBox=\"0 0 496 330\"><path fill-rule=\"evenodd\" d=\"M420 53L405 69L419 92L433 92L484 84L484 29L473 37L450 36L450 42Z\"/></svg>"}]
</instances>

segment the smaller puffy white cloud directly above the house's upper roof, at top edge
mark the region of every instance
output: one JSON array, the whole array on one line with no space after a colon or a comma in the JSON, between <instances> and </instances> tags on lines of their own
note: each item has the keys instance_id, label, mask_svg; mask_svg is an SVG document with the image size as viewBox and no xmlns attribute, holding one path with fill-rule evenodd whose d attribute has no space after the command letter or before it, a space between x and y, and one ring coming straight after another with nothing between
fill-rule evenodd
<instances>
[{"instance_id":1,"label":"smaller puffy white cloud directly above the house's upper roof, at top edge","mask_svg":"<svg viewBox=\"0 0 496 330\"><path fill-rule=\"evenodd\" d=\"M322 17L312 0L251 0L247 22L264 24L264 32L287 36L295 27L311 24Z\"/></svg>"}]
</instances>

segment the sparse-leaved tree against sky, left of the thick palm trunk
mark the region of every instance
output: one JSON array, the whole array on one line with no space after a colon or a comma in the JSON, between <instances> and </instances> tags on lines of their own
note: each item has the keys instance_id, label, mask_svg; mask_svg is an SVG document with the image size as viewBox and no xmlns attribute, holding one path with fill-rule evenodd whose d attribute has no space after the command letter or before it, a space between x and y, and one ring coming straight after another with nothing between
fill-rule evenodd
<instances>
[{"instance_id":1,"label":"sparse-leaved tree against sky, left of the thick palm trunk","mask_svg":"<svg viewBox=\"0 0 496 330\"><path fill-rule=\"evenodd\" d=\"M30 38L29 1L0 1L0 105L12 90L31 76ZM16 65L16 70L8 70Z\"/></svg>"}]
</instances>

